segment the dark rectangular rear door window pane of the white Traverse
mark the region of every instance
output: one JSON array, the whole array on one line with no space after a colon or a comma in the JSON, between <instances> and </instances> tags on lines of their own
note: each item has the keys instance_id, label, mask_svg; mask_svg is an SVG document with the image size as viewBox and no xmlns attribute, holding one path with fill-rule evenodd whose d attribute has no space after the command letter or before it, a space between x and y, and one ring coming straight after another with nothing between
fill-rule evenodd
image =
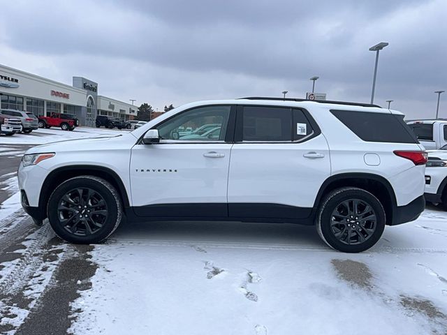
<instances>
[{"instance_id":1,"label":"dark rectangular rear door window pane of the white Traverse","mask_svg":"<svg viewBox=\"0 0 447 335\"><path fill-rule=\"evenodd\" d=\"M281 107L244 107L242 140L277 142L292 140L292 111Z\"/></svg>"}]
</instances>

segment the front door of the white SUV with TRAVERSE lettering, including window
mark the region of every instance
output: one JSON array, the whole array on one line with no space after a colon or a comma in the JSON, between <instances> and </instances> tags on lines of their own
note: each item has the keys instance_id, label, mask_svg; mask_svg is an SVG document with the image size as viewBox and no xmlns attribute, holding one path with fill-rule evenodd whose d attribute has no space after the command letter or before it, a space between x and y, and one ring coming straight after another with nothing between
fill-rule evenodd
<instances>
[{"instance_id":1,"label":"front door of the white SUV with TRAVERSE lettering, including window","mask_svg":"<svg viewBox=\"0 0 447 335\"><path fill-rule=\"evenodd\" d=\"M131 154L135 214L150 217L226 217L232 107L181 112L157 125L159 144L137 144ZM234 113L235 111L233 111ZM208 127L207 125L212 125Z\"/></svg>"}]
</instances>

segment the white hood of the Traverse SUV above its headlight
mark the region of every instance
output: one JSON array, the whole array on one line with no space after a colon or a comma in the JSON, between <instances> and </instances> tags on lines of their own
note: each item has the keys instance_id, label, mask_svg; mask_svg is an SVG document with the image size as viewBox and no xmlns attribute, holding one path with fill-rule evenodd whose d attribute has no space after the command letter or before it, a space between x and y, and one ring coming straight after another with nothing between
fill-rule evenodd
<instances>
[{"instance_id":1,"label":"white hood of the Traverse SUV above its headlight","mask_svg":"<svg viewBox=\"0 0 447 335\"><path fill-rule=\"evenodd\" d=\"M131 133L112 135L112 136L100 136L100 137L87 137L76 140L64 140L59 142L52 142L48 144L38 145L28 149L25 154L40 154L45 152L61 152L61 151L91 151L110 149L111 147L121 147L120 144L129 144L129 149L136 142L135 136Z\"/></svg>"}]
</instances>

